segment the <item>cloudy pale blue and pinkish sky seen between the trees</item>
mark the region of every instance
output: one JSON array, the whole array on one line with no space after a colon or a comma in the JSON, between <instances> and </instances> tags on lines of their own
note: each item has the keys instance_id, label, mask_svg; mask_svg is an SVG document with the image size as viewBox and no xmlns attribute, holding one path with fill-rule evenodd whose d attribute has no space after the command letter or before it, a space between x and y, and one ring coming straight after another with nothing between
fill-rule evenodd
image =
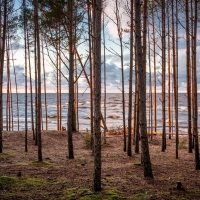
<instances>
[{"instance_id":1,"label":"cloudy pale blue and pinkish sky seen between the trees","mask_svg":"<svg viewBox=\"0 0 200 200\"><path fill-rule=\"evenodd\" d=\"M111 54L110 51L114 49L116 52L120 53L119 49L119 40L118 40L118 35L117 35L117 28L116 25L113 23L113 21L116 21L114 18L114 12L113 8L114 6L112 4L107 5L105 8L105 13L106 13L106 28L105 28L105 33L106 33L106 47L109 50L106 50L106 90L108 93L119 93L121 92L121 63L120 63L120 57ZM129 21L129 17L127 14L124 12L122 9L122 6L120 6L120 16L121 16L121 23L122 23L122 28L123 29L128 29L127 22ZM113 21L110 20L110 18L114 19ZM158 27L157 27L158 28ZM197 80L198 80L198 91L200 92L200 58L198 55L200 55L200 29L198 27L198 41L197 41ZM19 33L21 34L21 33ZM129 41L129 34L123 32L123 41L128 42ZM11 81L12 85L15 83L15 76L13 73L13 65L15 66L15 71L16 71L16 77L17 77L17 85L18 85L18 92L24 92L25 88L25 77L24 77L24 66L25 66L25 61L24 61L24 50L23 50L23 40L20 41L21 48L18 48L14 50L14 63L11 63ZM179 92L186 92L186 40L185 40L185 31L179 26ZM161 41L158 39L157 40L157 46L156 46L156 51L158 53L161 53L159 46L161 46ZM80 54L85 54L85 49L86 45L81 47L81 49L78 49ZM128 81L129 81L129 63L130 63L130 53L129 49L127 47L123 47L124 50L124 79L125 79L125 92L128 92ZM152 52L151 52L152 53ZM103 45L102 45L102 91L104 90L103 88ZM84 61L83 61L84 63ZM149 61L147 60L147 83L149 81ZM80 65L80 64L79 64ZM31 66L33 68L33 58L31 62ZM153 72L153 59L151 58L151 70ZM157 92L161 92L161 57L159 55L156 56L156 68L157 68ZM51 64L51 62L45 58L45 70L46 70L46 84L47 84L47 92L56 92L56 76L55 76L55 68ZM89 67L86 67L86 71L89 74ZM68 77L68 71L65 66L62 66L62 72L63 74ZM5 72L6 73L6 72ZM4 73L4 92L6 92L6 74ZM134 72L133 72L134 73ZM29 77L28 77L29 78ZM34 82L34 73L32 74L32 79ZM152 82L153 82L153 74L152 74ZM42 83L43 84L43 83ZM86 79L83 75L80 76L78 80L79 84L79 92L90 92ZM134 86L134 83L133 83ZM15 86L13 86L13 91L15 92ZM43 87L42 87L43 88ZM28 83L28 91L30 91L29 83ZM147 84L147 91L148 91L148 84ZM166 91L167 91L167 83L166 83ZM68 82L66 79L63 78L62 80L62 92L67 93L68 92Z\"/></svg>"}]
</instances>

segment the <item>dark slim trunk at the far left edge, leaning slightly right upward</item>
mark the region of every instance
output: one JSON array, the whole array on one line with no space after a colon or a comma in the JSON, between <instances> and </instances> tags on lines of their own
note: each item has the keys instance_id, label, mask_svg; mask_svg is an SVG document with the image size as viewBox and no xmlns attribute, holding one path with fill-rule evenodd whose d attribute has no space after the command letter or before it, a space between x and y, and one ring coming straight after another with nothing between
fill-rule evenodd
<instances>
[{"instance_id":1,"label":"dark slim trunk at the far left edge, leaning slightly right upward","mask_svg":"<svg viewBox=\"0 0 200 200\"><path fill-rule=\"evenodd\" d=\"M1 17L1 16L0 16ZM6 43L6 29L7 29L7 0L4 0L4 22L3 22L3 35L2 45L0 49L0 153L3 152L3 68L4 68L4 55Z\"/></svg>"}]
</instances>

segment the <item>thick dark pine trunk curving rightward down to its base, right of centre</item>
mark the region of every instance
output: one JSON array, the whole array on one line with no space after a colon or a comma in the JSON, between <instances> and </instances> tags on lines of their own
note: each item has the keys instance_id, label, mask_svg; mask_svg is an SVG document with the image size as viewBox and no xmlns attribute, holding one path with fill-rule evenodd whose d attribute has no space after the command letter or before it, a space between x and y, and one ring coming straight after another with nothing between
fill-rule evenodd
<instances>
[{"instance_id":1,"label":"thick dark pine trunk curving rightward down to its base, right of centre","mask_svg":"<svg viewBox=\"0 0 200 200\"><path fill-rule=\"evenodd\" d=\"M135 0L135 41L136 56L139 69L139 121L141 133L142 163L144 165L144 177L152 177L149 144L147 137L146 119L146 26L147 26L147 0L144 1L144 24L143 24L143 52L141 43L141 3Z\"/></svg>"}]
</instances>

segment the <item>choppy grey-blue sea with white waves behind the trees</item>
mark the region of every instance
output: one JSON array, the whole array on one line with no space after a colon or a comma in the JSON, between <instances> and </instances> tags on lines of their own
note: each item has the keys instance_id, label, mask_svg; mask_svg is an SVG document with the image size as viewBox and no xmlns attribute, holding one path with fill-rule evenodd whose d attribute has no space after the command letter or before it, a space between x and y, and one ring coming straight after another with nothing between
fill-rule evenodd
<instances>
[{"instance_id":1,"label":"choppy grey-blue sea with white waves behind the trees","mask_svg":"<svg viewBox=\"0 0 200 200\"><path fill-rule=\"evenodd\" d=\"M173 94L170 95L171 99ZM28 93L27 99L27 122L28 129L31 130L31 98ZM46 129L46 110L45 110L45 95L42 94L42 129ZM33 94L33 101L35 99L35 94ZM152 104L150 103L150 95L147 94L147 126L154 126L154 96L152 95ZM166 131L168 131L168 95L166 95ZM120 129L123 127L122 120L122 94L121 93L109 93L106 94L106 101L104 100L104 95L102 94L102 115L104 116L104 108L106 107L106 126L110 130ZM8 104L10 102L10 109L8 109ZM106 104L104 103L106 102ZM18 106L17 106L18 102ZM68 94L61 94L61 124L63 127L67 127L67 113L68 113ZM156 126L157 131L162 131L162 96L160 93L156 95ZM46 94L46 109L47 109L47 129L57 130L57 102L55 93ZM175 125L174 118L174 102L171 100L171 121L172 126ZM3 94L3 130L8 130L8 124L10 123L10 129L12 131L25 130L25 94L18 93L12 94L10 98L7 94ZM134 105L134 98L133 98ZM35 102L33 102L33 108L35 108ZM134 110L134 107L133 107ZM80 131L90 130L90 94L81 93L78 94L78 123L77 129ZM35 115L35 113L34 113ZM126 126L128 125L128 94L125 94L125 117ZM151 121L151 119L153 121ZM8 122L9 121L9 122ZM187 124L188 124L188 113L187 113L187 95L184 93L179 93L178 95L178 126L179 133L187 134ZM198 126L200 126L200 94L198 94ZM173 130L173 129L172 129ZM175 128L174 128L175 131Z\"/></svg>"}]
</instances>

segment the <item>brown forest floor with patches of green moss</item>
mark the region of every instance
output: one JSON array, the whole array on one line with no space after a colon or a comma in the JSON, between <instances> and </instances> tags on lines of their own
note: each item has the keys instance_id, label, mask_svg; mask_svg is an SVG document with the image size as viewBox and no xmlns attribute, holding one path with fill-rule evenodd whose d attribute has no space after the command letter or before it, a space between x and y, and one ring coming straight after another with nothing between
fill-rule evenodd
<instances>
[{"instance_id":1,"label":"brown forest floor with patches of green moss","mask_svg":"<svg viewBox=\"0 0 200 200\"><path fill-rule=\"evenodd\" d=\"M188 153L187 138L180 136L179 159L175 136L161 152L161 136L149 140L154 179L143 177L140 154L128 157L122 135L107 135L102 145L102 191L94 193L93 156L88 135L74 133L75 159L67 158L67 133L42 131L43 162L37 162L37 146L28 132L4 132L0 154L0 199L200 199L200 171L194 153ZM133 146L134 152L134 146ZM177 182L182 183L180 190Z\"/></svg>"}]
</instances>

